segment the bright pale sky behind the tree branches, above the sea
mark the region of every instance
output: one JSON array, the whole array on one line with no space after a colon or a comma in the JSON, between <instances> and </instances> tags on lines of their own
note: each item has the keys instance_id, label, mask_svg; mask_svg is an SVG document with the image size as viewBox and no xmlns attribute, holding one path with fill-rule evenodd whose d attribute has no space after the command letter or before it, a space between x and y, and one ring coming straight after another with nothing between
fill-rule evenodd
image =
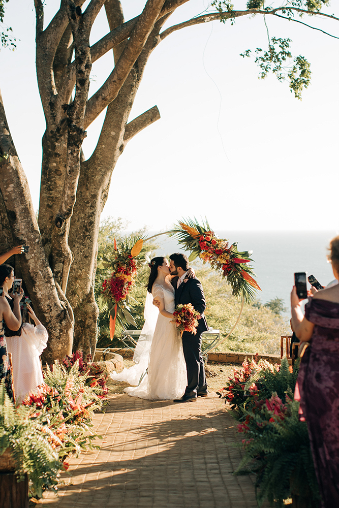
<instances>
[{"instance_id":1,"label":"bright pale sky behind the tree branches, above the sea","mask_svg":"<svg viewBox=\"0 0 339 508\"><path fill-rule=\"evenodd\" d=\"M126 19L144 3L123 1ZM45 4L49 20L59 2ZM190 0L167 25L207 6L204 0ZM235 8L244 4L235 2ZM35 74L33 0L10 0L5 20L20 41L15 52L0 52L0 87L37 209L45 124ZM339 229L339 40L269 16L267 24L271 37L290 37L294 55L312 63L312 83L302 101L287 83L259 80L253 59L239 56L267 47L262 17L177 31L151 55L130 118L157 105L161 119L127 145L113 172L103 216L128 219L130 229L167 229L188 216L206 216L214 230ZM339 36L339 22L317 24ZM107 30L102 12L93 41ZM111 66L111 53L94 64L91 93ZM102 121L87 131L86 156Z\"/></svg>"}]
</instances>

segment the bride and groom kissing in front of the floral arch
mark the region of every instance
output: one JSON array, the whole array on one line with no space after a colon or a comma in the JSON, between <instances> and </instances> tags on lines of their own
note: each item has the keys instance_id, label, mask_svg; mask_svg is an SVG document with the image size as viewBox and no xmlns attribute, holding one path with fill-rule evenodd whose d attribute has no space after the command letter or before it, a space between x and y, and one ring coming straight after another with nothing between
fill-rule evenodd
<instances>
[{"instance_id":1,"label":"bride and groom kissing in front of the floral arch","mask_svg":"<svg viewBox=\"0 0 339 508\"><path fill-rule=\"evenodd\" d=\"M145 324L135 348L135 365L120 374L113 372L111 377L138 385L125 389L132 397L174 402L207 397L201 334L208 327L201 282L189 268L188 257L178 252L170 256L170 263L162 256L153 258L149 267ZM183 332L180 337L172 322L173 312L178 304L187 303L193 305L201 318L196 335Z\"/></svg>"}]
</instances>

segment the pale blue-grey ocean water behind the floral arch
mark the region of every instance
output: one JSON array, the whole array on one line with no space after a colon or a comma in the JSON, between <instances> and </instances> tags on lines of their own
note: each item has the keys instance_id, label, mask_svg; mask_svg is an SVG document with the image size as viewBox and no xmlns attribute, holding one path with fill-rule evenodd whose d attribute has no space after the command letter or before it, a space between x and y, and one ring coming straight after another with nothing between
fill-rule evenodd
<instances>
[{"instance_id":1,"label":"pale blue-grey ocean water behind the floral arch","mask_svg":"<svg viewBox=\"0 0 339 508\"><path fill-rule=\"evenodd\" d=\"M313 274L322 285L334 279L331 264L327 263L327 247L336 231L216 231L230 243L238 242L238 249L253 250L252 264L262 291L258 299L266 303L282 298L289 308L294 272ZM149 233L149 236L156 233ZM174 238L166 235L155 239L160 248L155 256L184 252ZM225 282L226 283L226 282ZM287 312L289 314L289 311Z\"/></svg>"}]
</instances>

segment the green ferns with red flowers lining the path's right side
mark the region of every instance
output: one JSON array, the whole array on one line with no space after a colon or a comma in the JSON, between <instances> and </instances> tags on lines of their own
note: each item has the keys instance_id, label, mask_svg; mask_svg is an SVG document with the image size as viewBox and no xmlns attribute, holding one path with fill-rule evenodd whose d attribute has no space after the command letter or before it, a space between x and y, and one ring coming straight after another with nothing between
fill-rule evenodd
<instances>
[{"instance_id":1,"label":"green ferns with red flowers lining the path's right side","mask_svg":"<svg viewBox=\"0 0 339 508\"><path fill-rule=\"evenodd\" d=\"M288 498L295 505L319 505L307 426L299 421L299 402L293 399L298 368L286 358L281 365L246 359L218 392L244 435L244 456L235 474L256 474L259 506L267 499L283 507Z\"/></svg>"}]
</instances>

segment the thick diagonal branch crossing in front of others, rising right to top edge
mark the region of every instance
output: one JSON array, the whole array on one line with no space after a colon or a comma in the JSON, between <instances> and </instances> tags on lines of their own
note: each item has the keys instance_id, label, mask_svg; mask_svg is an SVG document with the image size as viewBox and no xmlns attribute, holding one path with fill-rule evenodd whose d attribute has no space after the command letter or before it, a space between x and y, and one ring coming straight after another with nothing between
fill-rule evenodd
<instances>
[{"instance_id":1,"label":"thick diagonal branch crossing in front of others, rising right to top edge","mask_svg":"<svg viewBox=\"0 0 339 508\"><path fill-rule=\"evenodd\" d=\"M87 102L85 129L117 96L146 43L164 2L165 0L147 1L115 68L101 88Z\"/></svg>"}]
</instances>

